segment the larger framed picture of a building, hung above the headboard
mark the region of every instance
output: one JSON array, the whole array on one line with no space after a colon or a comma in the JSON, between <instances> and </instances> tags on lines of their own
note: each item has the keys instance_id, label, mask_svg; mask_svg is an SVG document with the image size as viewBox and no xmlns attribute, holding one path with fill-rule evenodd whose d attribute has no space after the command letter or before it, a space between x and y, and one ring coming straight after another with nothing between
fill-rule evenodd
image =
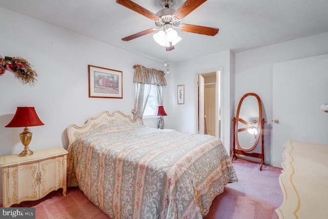
<instances>
[{"instance_id":1,"label":"larger framed picture of a building, hung above the headboard","mask_svg":"<svg viewBox=\"0 0 328 219\"><path fill-rule=\"evenodd\" d=\"M88 65L89 69L89 97L123 98L123 72Z\"/></svg>"}]
</instances>

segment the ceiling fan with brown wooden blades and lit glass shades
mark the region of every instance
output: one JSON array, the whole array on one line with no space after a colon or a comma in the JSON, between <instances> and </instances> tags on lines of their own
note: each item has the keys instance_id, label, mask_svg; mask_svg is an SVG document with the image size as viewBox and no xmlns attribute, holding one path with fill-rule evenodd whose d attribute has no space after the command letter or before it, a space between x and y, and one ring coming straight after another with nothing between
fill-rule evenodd
<instances>
[{"instance_id":1,"label":"ceiling fan with brown wooden blades and lit glass shades","mask_svg":"<svg viewBox=\"0 0 328 219\"><path fill-rule=\"evenodd\" d=\"M173 0L158 0L160 1L159 4L163 6L163 9L158 11L156 14L152 13L151 11L141 7L140 5L130 1L130 0L116 0L116 3L131 9L149 19L152 19L155 22L157 28L151 28L148 30L141 31L139 33L132 34L130 36L122 38L122 41L131 41L140 36L144 36L149 33L153 33L155 31L163 31L161 33L168 35L168 33L174 29L178 29L184 32L190 33L198 33L203 35L214 36L218 33L218 28L212 27L204 27L198 25L191 25L191 24L181 24L180 21L182 18L186 17L196 8L198 8L201 4L206 2L207 0L187 0L183 3L177 10L174 10L172 5L174 5ZM174 31L172 31L174 33ZM172 33L171 32L171 33ZM176 32L176 31L175 31ZM177 35L177 33L176 33ZM154 36L155 39L155 36ZM180 38L181 39L181 38ZM156 39L155 39L156 41ZM156 41L157 42L157 41ZM160 44L166 47L167 51L174 49L174 42L173 40L169 39L169 41L165 41L165 44ZM158 42L157 42L158 43Z\"/></svg>"}]
</instances>

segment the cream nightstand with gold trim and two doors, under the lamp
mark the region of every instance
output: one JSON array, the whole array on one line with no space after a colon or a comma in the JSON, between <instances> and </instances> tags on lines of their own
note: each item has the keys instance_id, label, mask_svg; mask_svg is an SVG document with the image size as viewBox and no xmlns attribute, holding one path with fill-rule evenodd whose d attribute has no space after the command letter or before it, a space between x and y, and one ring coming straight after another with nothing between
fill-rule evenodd
<instances>
[{"instance_id":1,"label":"cream nightstand with gold trim and two doors, under the lamp","mask_svg":"<svg viewBox=\"0 0 328 219\"><path fill-rule=\"evenodd\" d=\"M57 147L34 151L31 156L1 156L3 207L39 200L59 188L65 196L67 153Z\"/></svg>"}]
</instances>

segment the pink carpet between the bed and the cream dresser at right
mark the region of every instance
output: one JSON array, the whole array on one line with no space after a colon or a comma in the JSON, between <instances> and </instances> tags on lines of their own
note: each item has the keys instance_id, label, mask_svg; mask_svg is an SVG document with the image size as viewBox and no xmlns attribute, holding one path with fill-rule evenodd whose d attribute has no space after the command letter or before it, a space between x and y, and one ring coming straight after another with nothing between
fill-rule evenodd
<instances>
[{"instance_id":1,"label":"pink carpet between the bed and the cream dresser at right","mask_svg":"<svg viewBox=\"0 0 328 219\"><path fill-rule=\"evenodd\" d=\"M260 171L259 163L239 158L233 164L238 182L228 184L224 192L214 199L205 218L278 218L275 209L282 204L279 186L282 169L263 165Z\"/></svg>"}]
</instances>

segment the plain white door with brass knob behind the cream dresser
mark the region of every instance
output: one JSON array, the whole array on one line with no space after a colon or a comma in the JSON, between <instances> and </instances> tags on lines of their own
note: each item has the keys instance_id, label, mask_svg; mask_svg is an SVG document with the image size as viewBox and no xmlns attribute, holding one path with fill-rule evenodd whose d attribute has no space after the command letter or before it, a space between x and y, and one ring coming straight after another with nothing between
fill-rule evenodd
<instances>
[{"instance_id":1,"label":"plain white door with brass knob behind the cream dresser","mask_svg":"<svg viewBox=\"0 0 328 219\"><path fill-rule=\"evenodd\" d=\"M286 141L328 144L327 102L328 55L274 64L273 166L281 168Z\"/></svg>"}]
</instances>

